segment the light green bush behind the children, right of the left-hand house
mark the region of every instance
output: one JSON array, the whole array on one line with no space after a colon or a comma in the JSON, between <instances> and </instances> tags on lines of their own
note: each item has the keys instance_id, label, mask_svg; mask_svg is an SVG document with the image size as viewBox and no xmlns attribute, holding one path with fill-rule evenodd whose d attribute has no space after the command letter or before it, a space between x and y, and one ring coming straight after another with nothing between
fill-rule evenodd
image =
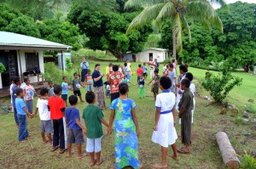
<instances>
[{"instance_id":1,"label":"light green bush behind the children, right of the left-hand house","mask_svg":"<svg viewBox=\"0 0 256 169\"><path fill-rule=\"evenodd\" d=\"M70 83L73 79L74 71L75 70L70 69L63 73L62 70L55 65L55 63L49 62L44 64L44 80L46 82L52 81L55 83L55 85L57 85L62 83L62 76L67 76L67 82Z\"/></svg>"}]
</instances>

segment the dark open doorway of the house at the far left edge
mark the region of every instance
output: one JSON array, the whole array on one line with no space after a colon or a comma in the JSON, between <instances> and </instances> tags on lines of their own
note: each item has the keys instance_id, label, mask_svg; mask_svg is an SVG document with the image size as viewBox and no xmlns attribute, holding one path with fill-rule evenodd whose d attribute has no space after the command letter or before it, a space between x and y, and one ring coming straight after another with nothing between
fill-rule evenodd
<instances>
[{"instance_id":1,"label":"dark open doorway of the house at the far left edge","mask_svg":"<svg viewBox=\"0 0 256 169\"><path fill-rule=\"evenodd\" d=\"M15 50L0 50L0 62L6 69L1 74L3 87L9 87L11 76L19 76L17 52Z\"/></svg>"}]
</instances>

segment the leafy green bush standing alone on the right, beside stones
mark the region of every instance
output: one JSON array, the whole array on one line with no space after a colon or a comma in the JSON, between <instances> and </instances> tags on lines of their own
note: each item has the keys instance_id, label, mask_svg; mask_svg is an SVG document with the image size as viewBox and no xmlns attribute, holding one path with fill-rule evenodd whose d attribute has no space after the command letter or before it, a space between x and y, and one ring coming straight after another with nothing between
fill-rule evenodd
<instances>
[{"instance_id":1,"label":"leafy green bush standing alone on the right, beside stones","mask_svg":"<svg viewBox=\"0 0 256 169\"><path fill-rule=\"evenodd\" d=\"M221 103L235 86L241 85L242 81L240 77L231 75L229 65L223 65L217 76L207 71L205 81L201 83L217 103Z\"/></svg>"}]
</instances>

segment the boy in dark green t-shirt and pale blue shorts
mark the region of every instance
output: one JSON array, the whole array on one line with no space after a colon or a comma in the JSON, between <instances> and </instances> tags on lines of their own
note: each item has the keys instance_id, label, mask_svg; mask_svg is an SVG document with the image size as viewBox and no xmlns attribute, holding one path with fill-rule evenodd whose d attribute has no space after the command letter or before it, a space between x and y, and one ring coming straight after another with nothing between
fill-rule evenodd
<instances>
[{"instance_id":1,"label":"boy in dark green t-shirt and pale blue shorts","mask_svg":"<svg viewBox=\"0 0 256 169\"><path fill-rule=\"evenodd\" d=\"M85 130L87 132L86 152L90 153L90 166L101 165L102 151L102 123L108 127L108 123L104 120L104 115L100 107L96 106L96 97L93 92L85 94L86 102L89 104L84 108L83 118L85 122ZM96 154L96 160L95 155Z\"/></svg>"}]
</instances>

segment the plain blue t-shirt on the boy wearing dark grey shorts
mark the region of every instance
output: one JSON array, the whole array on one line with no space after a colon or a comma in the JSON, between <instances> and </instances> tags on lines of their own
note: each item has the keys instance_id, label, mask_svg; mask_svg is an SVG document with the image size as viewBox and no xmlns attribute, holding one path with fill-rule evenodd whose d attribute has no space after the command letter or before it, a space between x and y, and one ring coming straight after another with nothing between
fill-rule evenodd
<instances>
[{"instance_id":1,"label":"plain blue t-shirt on the boy wearing dark grey shorts","mask_svg":"<svg viewBox=\"0 0 256 169\"><path fill-rule=\"evenodd\" d=\"M80 121L79 110L75 107L68 107L65 110L65 117L67 118L67 127L69 129L81 129L76 123L76 119Z\"/></svg>"}]
</instances>

